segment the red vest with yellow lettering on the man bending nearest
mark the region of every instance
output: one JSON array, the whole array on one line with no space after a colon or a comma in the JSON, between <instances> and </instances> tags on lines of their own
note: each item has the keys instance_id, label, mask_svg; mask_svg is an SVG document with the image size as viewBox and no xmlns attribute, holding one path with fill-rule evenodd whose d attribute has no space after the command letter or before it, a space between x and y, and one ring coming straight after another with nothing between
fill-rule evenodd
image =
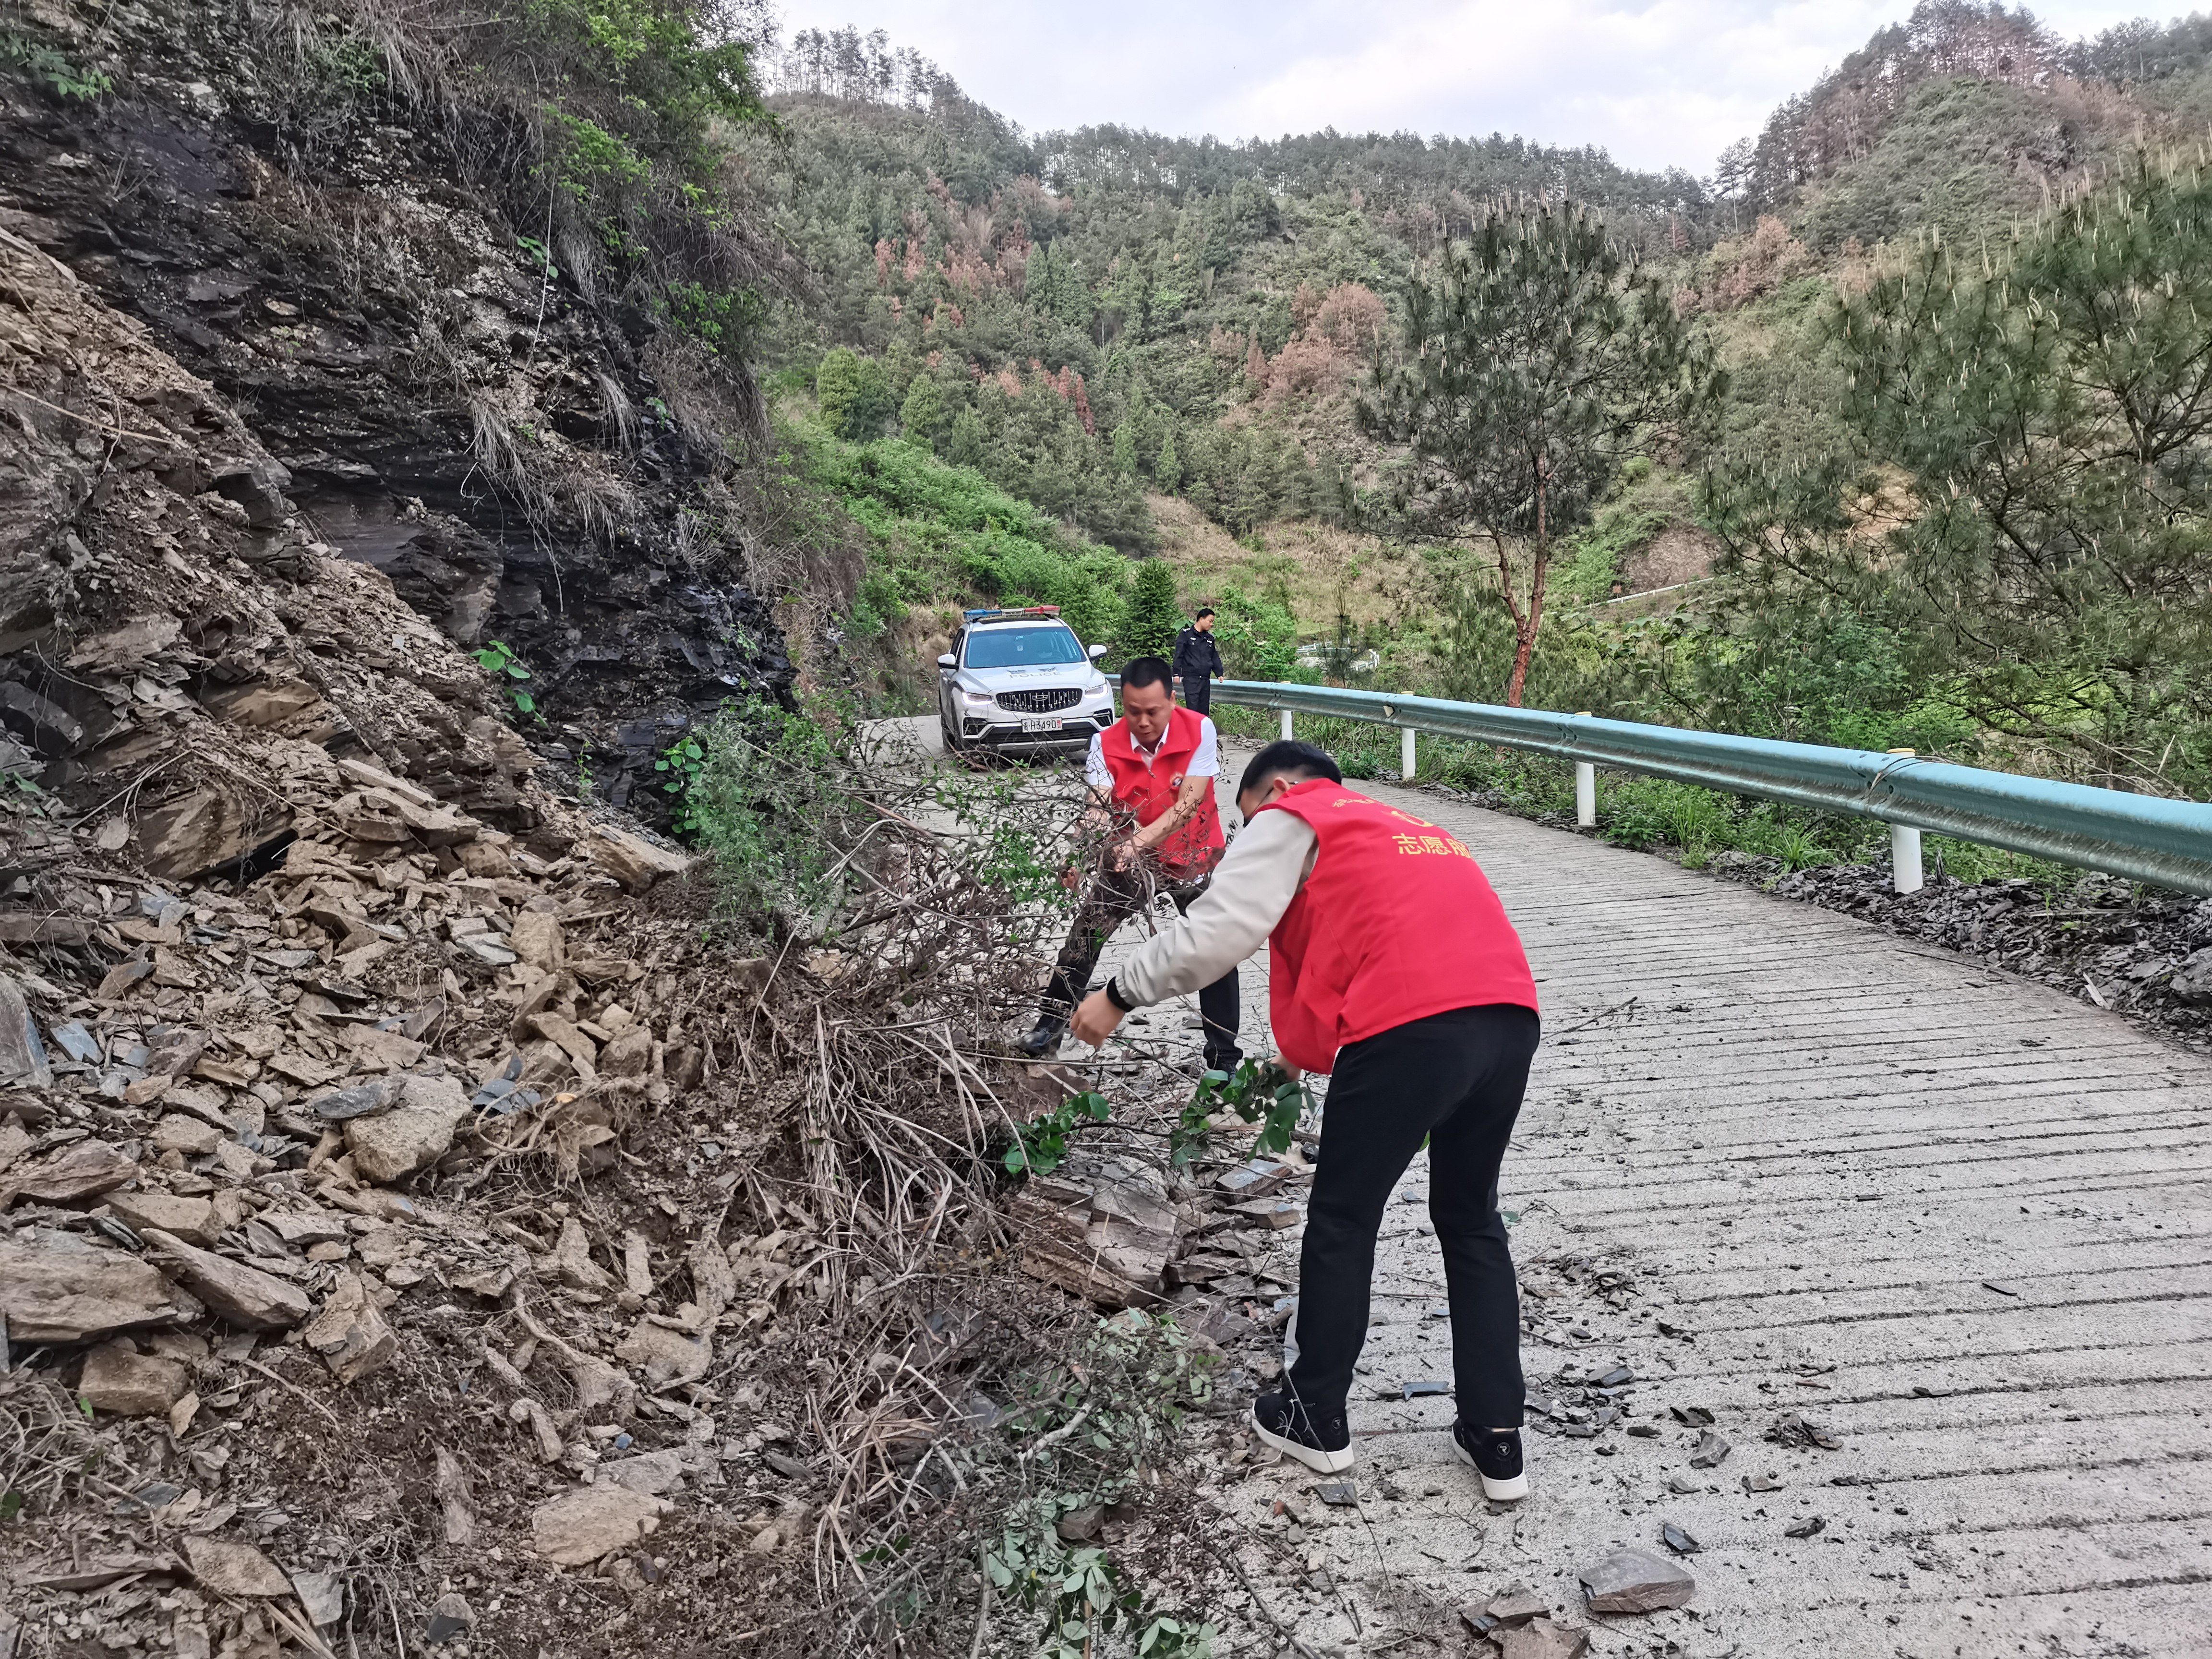
<instances>
[{"instance_id":1,"label":"red vest with yellow lettering on the man bending nearest","mask_svg":"<svg viewBox=\"0 0 2212 1659\"><path fill-rule=\"evenodd\" d=\"M1329 1071L1345 1044L1431 1013L1537 1006L1520 933L1464 843L1327 779L1261 807L1276 810L1321 843L1267 938L1267 1013L1290 1064Z\"/></svg>"}]
</instances>

